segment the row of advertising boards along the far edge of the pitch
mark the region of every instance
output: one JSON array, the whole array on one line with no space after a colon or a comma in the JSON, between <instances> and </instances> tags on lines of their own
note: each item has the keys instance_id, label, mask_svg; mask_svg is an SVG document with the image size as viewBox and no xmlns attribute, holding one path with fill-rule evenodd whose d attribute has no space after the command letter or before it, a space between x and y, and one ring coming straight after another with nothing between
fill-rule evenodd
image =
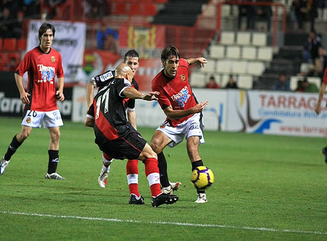
<instances>
[{"instance_id":1,"label":"row of advertising boards along the far edge of the pitch","mask_svg":"<svg viewBox=\"0 0 327 241\"><path fill-rule=\"evenodd\" d=\"M13 72L0 76L0 116L21 117L23 104ZM258 90L193 89L198 101L209 100L204 110L205 130L308 137L327 136L327 97L322 113L314 112L318 93ZM95 90L96 92L96 90ZM65 88L58 102L63 119L84 122L87 112L86 87ZM157 101L136 101L138 126L156 128L165 119Z\"/></svg>"}]
</instances>

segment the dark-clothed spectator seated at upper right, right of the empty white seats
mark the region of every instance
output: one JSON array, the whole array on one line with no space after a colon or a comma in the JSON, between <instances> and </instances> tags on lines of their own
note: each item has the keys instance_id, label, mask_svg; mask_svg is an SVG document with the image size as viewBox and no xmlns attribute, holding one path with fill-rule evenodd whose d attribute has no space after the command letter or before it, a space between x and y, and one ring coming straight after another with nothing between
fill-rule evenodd
<instances>
[{"instance_id":1,"label":"dark-clothed spectator seated at upper right, right of the empty white seats","mask_svg":"<svg viewBox=\"0 0 327 241\"><path fill-rule=\"evenodd\" d=\"M304 43L304 62L313 62L313 60L318 57L318 48L321 46L321 38L316 34L314 30L310 31L309 36Z\"/></svg>"}]
</instances>

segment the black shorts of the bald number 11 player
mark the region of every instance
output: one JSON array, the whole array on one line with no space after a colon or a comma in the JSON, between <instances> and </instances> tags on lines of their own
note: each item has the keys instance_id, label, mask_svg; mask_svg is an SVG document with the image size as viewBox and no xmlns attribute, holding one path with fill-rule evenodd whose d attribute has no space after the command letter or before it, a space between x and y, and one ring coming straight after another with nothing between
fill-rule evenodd
<instances>
[{"instance_id":1,"label":"black shorts of the bald number 11 player","mask_svg":"<svg viewBox=\"0 0 327 241\"><path fill-rule=\"evenodd\" d=\"M143 150L146 140L144 140L140 133L136 130L131 130L124 137L118 137L115 140L105 140L99 143L95 141L100 150L108 156L115 159L139 159L140 153Z\"/></svg>"}]
</instances>

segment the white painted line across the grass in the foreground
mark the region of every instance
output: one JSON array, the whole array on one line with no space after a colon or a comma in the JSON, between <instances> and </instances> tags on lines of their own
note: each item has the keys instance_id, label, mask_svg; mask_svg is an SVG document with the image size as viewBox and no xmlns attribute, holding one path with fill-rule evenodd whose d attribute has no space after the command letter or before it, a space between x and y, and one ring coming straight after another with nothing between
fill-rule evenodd
<instances>
[{"instance_id":1,"label":"white painted line across the grass in the foreground","mask_svg":"<svg viewBox=\"0 0 327 241\"><path fill-rule=\"evenodd\" d=\"M20 216L35 216L35 217L52 217L52 218L71 218L83 220L97 220L108 222L131 222L131 223L148 223L148 224L163 224L163 225L179 225L179 226L193 226L193 227L211 227L211 228L231 228L255 231L267 231L277 233L298 233L298 234L313 234L313 235L327 235L327 232L320 231L303 231L303 230L290 230L290 229L274 229L274 228L258 228L258 227L237 227L233 225L219 225L219 224L200 224L200 223L182 223L182 222L163 222L163 221L138 221L138 220L123 220L116 218L103 218L103 217L81 217L81 216L63 216L63 215L49 215L49 214L30 214L19 212L0 211L0 214L20 215Z\"/></svg>"}]
</instances>

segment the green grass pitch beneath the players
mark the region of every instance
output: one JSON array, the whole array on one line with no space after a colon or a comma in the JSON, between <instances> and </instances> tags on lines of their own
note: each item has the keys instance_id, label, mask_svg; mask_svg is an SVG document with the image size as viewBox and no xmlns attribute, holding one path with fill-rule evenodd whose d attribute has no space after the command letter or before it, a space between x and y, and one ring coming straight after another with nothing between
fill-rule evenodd
<instances>
[{"instance_id":1,"label":"green grass pitch beneath the players","mask_svg":"<svg viewBox=\"0 0 327 241\"><path fill-rule=\"evenodd\" d=\"M20 119L0 118L0 155L20 131ZM155 128L139 127L149 142ZM0 240L327 240L324 138L205 131L199 147L215 182L208 203L195 204L186 142L164 150L171 181L182 182L173 205L128 204L125 161L115 160L108 184L97 176L101 152L93 129L64 121L58 173L47 180L46 129L33 129L0 176Z\"/></svg>"}]
</instances>

